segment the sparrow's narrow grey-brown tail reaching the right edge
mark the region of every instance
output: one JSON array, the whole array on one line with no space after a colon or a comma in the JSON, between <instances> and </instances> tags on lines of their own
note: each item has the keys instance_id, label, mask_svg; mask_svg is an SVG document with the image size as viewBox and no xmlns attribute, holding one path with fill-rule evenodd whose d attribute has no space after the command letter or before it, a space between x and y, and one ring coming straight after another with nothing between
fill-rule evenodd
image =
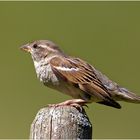
<instances>
[{"instance_id":1,"label":"sparrow's narrow grey-brown tail reaching the right edge","mask_svg":"<svg viewBox=\"0 0 140 140\"><path fill-rule=\"evenodd\" d=\"M131 102L131 103L140 103L140 96L136 95L135 93L119 87L117 91L117 98L118 100L126 101L126 102Z\"/></svg>"}]
</instances>

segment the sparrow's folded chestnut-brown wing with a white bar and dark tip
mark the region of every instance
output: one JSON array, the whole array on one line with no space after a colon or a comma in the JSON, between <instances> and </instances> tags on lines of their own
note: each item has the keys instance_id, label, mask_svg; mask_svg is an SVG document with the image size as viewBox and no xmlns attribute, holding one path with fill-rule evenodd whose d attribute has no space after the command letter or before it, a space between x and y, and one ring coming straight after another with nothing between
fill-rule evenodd
<instances>
[{"instance_id":1,"label":"sparrow's folded chestnut-brown wing with a white bar and dark tip","mask_svg":"<svg viewBox=\"0 0 140 140\"><path fill-rule=\"evenodd\" d=\"M50 64L58 78L90 94L101 104L121 108L112 99L111 94L98 78L94 68L85 61L79 58L54 57L50 60Z\"/></svg>"}]
</instances>

